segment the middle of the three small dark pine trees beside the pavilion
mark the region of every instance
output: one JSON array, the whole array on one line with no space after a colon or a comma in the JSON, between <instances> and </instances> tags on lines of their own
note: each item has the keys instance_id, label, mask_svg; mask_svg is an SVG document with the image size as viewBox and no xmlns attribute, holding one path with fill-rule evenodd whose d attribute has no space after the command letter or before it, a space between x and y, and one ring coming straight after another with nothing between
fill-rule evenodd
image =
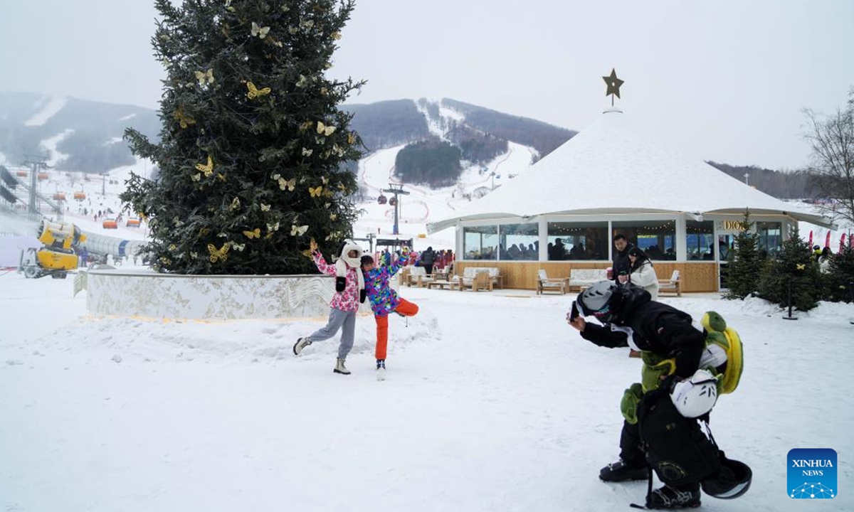
<instances>
[{"instance_id":1,"label":"middle of the three small dark pine trees beside the pavilion","mask_svg":"<svg viewBox=\"0 0 854 512\"><path fill-rule=\"evenodd\" d=\"M763 272L759 282L759 296L786 307L790 279L794 307L800 311L809 311L816 307L822 292L818 263L812 258L810 245L801 240L797 228L788 240L783 241L780 252Z\"/></svg>"}]
</instances>

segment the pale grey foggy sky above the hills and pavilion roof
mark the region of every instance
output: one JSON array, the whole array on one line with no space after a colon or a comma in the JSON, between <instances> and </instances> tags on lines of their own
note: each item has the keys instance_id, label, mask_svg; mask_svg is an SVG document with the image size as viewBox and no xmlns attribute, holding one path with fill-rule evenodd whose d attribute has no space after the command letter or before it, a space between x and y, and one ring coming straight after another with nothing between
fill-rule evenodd
<instances>
[{"instance_id":1,"label":"pale grey foggy sky above the hills and pavilion roof","mask_svg":"<svg viewBox=\"0 0 854 512\"><path fill-rule=\"evenodd\" d=\"M216 0L213 0L216 1ZM149 0L2 1L0 90L157 108ZM704 160L793 169L802 108L854 86L854 2L357 0L331 76L368 103L450 97L582 130L625 80L633 125Z\"/></svg>"}]
</instances>

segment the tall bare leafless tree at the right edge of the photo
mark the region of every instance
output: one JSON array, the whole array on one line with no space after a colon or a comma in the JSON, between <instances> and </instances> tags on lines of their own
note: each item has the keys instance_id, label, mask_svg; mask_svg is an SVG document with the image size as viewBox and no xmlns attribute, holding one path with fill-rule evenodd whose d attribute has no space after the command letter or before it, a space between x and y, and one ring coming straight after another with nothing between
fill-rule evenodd
<instances>
[{"instance_id":1,"label":"tall bare leafless tree at the right edge of the photo","mask_svg":"<svg viewBox=\"0 0 854 512\"><path fill-rule=\"evenodd\" d=\"M805 138L812 146L810 185L822 197L833 200L819 205L823 212L854 224L854 88L848 93L848 104L836 113L820 115L810 109Z\"/></svg>"}]
</instances>

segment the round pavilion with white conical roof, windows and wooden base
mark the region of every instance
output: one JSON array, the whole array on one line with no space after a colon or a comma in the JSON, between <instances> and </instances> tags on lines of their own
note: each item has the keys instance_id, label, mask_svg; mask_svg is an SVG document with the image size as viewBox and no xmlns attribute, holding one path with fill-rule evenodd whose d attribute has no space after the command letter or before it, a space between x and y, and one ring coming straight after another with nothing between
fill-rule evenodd
<instances>
[{"instance_id":1,"label":"round pavilion with white conical roof, windows and wooden base","mask_svg":"<svg viewBox=\"0 0 854 512\"><path fill-rule=\"evenodd\" d=\"M428 231L456 227L458 268L500 266L511 288L535 288L539 268L605 268L611 236L624 233L658 260L660 278L680 270L683 289L713 291L746 210L769 252L798 221L833 225L641 137L626 118L605 110L530 172Z\"/></svg>"}]
</instances>

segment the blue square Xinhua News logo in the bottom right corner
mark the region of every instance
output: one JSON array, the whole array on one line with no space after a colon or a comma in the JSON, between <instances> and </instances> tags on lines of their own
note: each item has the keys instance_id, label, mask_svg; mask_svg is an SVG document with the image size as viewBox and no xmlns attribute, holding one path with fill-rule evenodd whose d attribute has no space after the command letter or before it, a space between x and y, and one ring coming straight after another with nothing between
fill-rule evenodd
<instances>
[{"instance_id":1,"label":"blue square Xinhua News logo in the bottom right corner","mask_svg":"<svg viewBox=\"0 0 854 512\"><path fill-rule=\"evenodd\" d=\"M794 448L789 451L787 465L789 497L836 497L836 451L830 448Z\"/></svg>"}]
</instances>

